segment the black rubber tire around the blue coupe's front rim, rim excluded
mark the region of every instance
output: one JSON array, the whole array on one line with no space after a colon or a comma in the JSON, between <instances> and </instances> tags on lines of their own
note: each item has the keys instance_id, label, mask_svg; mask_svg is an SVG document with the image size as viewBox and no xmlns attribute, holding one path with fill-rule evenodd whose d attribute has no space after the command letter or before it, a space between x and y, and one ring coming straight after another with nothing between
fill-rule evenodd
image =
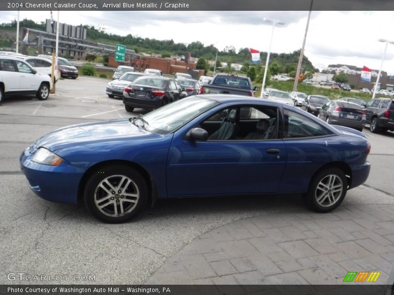
<instances>
[{"instance_id":1,"label":"black rubber tire around the blue coupe's front rim, rim excluded","mask_svg":"<svg viewBox=\"0 0 394 295\"><path fill-rule=\"evenodd\" d=\"M134 168L128 167L126 165L114 164L113 166L104 166L92 173L84 188L84 201L88 211L100 221L107 223L121 223L132 219L145 207L148 199L148 187L145 179ZM139 190L139 199L137 205L130 213L121 217L111 217L103 214L96 207L94 200L94 193L99 182L111 175L124 175L130 177Z\"/></svg>"}]
</instances>

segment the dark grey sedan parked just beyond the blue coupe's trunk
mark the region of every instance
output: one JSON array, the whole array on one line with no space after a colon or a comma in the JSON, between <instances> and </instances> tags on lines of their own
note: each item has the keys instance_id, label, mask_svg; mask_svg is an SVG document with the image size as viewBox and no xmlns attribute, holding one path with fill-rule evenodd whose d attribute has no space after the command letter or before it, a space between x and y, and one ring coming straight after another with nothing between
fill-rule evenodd
<instances>
[{"instance_id":1,"label":"dark grey sedan parked just beyond the blue coupe's trunk","mask_svg":"<svg viewBox=\"0 0 394 295\"><path fill-rule=\"evenodd\" d=\"M365 112L361 106L347 101L331 100L320 109L318 118L328 124L346 126L359 131L365 126Z\"/></svg>"}]
</instances>

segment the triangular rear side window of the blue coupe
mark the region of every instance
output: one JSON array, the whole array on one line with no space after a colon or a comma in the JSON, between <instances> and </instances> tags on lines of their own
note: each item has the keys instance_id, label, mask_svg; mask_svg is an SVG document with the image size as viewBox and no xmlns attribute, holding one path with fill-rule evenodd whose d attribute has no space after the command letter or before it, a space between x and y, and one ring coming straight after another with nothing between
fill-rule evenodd
<instances>
[{"instance_id":1,"label":"triangular rear side window of the blue coupe","mask_svg":"<svg viewBox=\"0 0 394 295\"><path fill-rule=\"evenodd\" d=\"M283 138L303 138L331 135L324 126L298 113L284 110L285 130Z\"/></svg>"}]
</instances>

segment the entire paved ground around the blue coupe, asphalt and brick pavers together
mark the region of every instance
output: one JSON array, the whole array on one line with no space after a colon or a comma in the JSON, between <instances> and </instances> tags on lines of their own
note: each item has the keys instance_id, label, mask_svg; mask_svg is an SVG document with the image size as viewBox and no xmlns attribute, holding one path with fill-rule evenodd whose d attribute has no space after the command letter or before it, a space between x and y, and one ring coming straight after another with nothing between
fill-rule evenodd
<instances>
[{"instance_id":1,"label":"entire paved ground around the blue coupe, asphalt and brick pavers together","mask_svg":"<svg viewBox=\"0 0 394 295\"><path fill-rule=\"evenodd\" d=\"M146 112L127 113L121 99L108 98L108 81L60 80L47 101L14 97L0 106L0 284L339 284L361 270L381 271L377 283L385 283L394 261L391 132L364 130L370 177L327 214L310 212L299 195L182 199L109 225L83 205L36 197L18 158L38 137ZM9 280L10 273L62 279Z\"/></svg>"}]
</instances>

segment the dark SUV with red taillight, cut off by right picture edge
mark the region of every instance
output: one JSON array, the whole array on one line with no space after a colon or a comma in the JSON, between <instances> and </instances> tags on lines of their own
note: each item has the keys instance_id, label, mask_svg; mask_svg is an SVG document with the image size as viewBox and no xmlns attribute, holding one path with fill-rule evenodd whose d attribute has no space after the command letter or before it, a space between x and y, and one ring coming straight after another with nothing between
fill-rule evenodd
<instances>
[{"instance_id":1,"label":"dark SUV with red taillight, cut off by right picture edge","mask_svg":"<svg viewBox=\"0 0 394 295\"><path fill-rule=\"evenodd\" d=\"M373 133L394 131L394 100L392 98L371 99L364 105L366 123Z\"/></svg>"}]
</instances>

